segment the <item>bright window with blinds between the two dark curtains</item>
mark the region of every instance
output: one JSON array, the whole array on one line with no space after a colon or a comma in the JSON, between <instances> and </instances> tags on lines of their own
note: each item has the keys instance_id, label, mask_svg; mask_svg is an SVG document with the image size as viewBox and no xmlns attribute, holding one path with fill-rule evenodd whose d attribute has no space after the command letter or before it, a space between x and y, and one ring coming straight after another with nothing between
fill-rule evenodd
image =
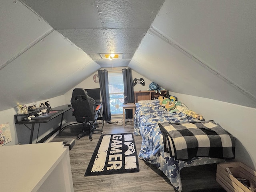
<instances>
[{"instance_id":1,"label":"bright window with blinds between the two dark curtains","mask_svg":"<svg viewBox=\"0 0 256 192\"><path fill-rule=\"evenodd\" d=\"M108 74L111 115L122 114L124 102L124 80L122 72Z\"/></svg>"}]
</instances>

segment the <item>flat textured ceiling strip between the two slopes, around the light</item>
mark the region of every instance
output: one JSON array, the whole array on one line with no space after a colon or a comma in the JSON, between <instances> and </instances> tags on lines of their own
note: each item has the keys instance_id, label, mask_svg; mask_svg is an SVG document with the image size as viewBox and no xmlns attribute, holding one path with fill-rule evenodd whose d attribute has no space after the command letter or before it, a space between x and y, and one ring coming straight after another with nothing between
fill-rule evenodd
<instances>
[{"instance_id":1,"label":"flat textured ceiling strip between the two slopes, around the light","mask_svg":"<svg viewBox=\"0 0 256 192\"><path fill-rule=\"evenodd\" d=\"M104 67L128 66L164 0L22 0ZM102 59L121 53L122 59Z\"/></svg>"}]
</instances>

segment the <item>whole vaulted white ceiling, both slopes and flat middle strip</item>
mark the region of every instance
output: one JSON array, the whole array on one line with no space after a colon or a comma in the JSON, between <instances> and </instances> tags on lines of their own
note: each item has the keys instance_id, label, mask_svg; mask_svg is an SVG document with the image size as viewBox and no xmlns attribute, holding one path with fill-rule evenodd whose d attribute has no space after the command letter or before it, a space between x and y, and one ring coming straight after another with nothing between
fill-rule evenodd
<instances>
[{"instance_id":1,"label":"whole vaulted white ceiling, both slopes and flat middle strip","mask_svg":"<svg viewBox=\"0 0 256 192\"><path fill-rule=\"evenodd\" d=\"M112 66L256 108L254 0L3 0L0 10L0 110L65 94Z\"/></svg>"}]
</instances>

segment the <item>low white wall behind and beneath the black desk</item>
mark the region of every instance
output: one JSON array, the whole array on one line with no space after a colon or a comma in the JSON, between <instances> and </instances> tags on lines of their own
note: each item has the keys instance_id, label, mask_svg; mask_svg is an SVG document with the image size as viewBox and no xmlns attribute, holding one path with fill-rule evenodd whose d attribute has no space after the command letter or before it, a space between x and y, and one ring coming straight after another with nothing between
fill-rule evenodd
<instances>
[{"instance_id":1,"label":"low white wall behind and beneath the black desk","mask_svg":"<svg viewBox=\"0 0 256 192\"><path fill-rule=\"evenodd\" d=\"M47 99L50 102L50 106L52 108L61 106L66 104L64 100L64 96L58 96L54 98ZM46 100L37 101L37 106L39 106L40 102L45 102ZM26 104L26 106L30 106L31 103ZM26 128L24 125L19 125L14 123L14 115L16 114L16 111L14 108L10 108L8 110L0 111L0 124L9 123L10 126L10 132L12 136L12 141L7 143L8 145L16 145L18 143L20 144L28 144L29 138L30 138L30 130ZM60 124L60 117L54 118L54 120L51 120L49 123L43 123L40 125L40 132L39 132L39 140L40 138L43 138L47 134L49 134L54 128ZM31 125L28 125L31 127ZM35 142L35 136L37 134L38 130L38 124L35 125L35 131L34 131L34 137L33 142Z\"/></svg>"}]
</instances>

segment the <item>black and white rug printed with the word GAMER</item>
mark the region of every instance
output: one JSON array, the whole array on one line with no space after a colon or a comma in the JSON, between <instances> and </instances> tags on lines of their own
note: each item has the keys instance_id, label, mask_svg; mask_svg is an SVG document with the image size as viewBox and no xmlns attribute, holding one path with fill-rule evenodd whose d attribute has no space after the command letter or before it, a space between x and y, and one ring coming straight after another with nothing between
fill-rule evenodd
<instances>
[{"instance_id":1,"label":"black and white rug printed with the word GAMER","mask_svg":"<svg viewBox=\"0 0 256 192\"><path fill-rule=\"evenodd\" d=\"M84 176L139 172L132 133L101 135Z\"/></svg>"}]
</instances>

